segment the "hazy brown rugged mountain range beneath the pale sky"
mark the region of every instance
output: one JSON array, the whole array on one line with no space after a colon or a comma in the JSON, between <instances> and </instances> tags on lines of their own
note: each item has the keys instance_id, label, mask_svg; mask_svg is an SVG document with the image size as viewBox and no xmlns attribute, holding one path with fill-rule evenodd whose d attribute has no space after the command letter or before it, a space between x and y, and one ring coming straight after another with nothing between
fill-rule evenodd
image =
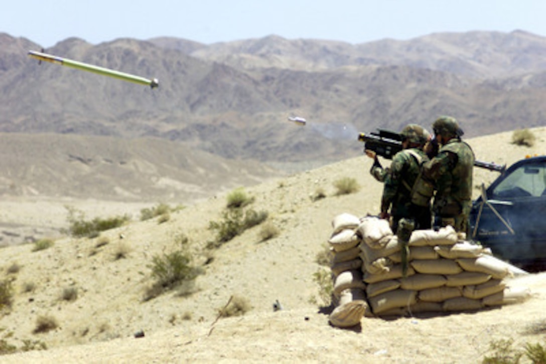
<instances>
[{"instance_id":1,"label":"hazy brown rugged mountain range beneath the pale sky","mask_svg":"<svg viewBox=\"0 0 546 364\"><path fill-rule=\"evenodd\" d=\"M276 35L210 45L167 37L97 45L69 38L44 50L157 77L156 89L27 57L40 49L0 34L5 135L151 138L168 147L154 141L139 148L164 153L163 159L175 143L222 163L254 159L302 170L358 156L358 132L400 130L410 122L429 127L440 115L457 117L466 136L545 124L546 38L524 31L364 44ZM289 116L305 117L306 126ZM32 151L33 143L21 136L19 148Z\"/></svg>"}]
</instances>

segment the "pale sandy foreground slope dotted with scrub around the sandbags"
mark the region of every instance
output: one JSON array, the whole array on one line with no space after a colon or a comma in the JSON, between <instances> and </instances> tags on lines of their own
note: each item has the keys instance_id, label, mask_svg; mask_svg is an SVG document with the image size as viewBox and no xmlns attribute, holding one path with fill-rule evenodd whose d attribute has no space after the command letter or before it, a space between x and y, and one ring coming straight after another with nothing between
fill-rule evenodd
<instances>
[{"instance_id":1,"label":"pale sandy foreground slope dotted with scrub around the sandbags","mask_svg":"<svg viewBox=\"0 0 546 364\"><path fill-rule=\"evenodd\" d=\"M542 153L544 128L532 148L511 144L512 133L468 140L482 160L511 164L525 154ZM493 147L495 149L493 149ZM336 214L376 213L381 184L369 175L371 160L360 156L246 188L252 207L269 213L280 234L260 241L260 226L210 249L210 221L222 218L226 193L157 218L105 231L97 238L67 237L32 252L32 244L2 249L4 277L14 280L13 309L0 321L2 335L20 347L24 340L50 349L1 357L3 362L169 362L169 361L339 361L479 362L491 341L514 339L518 347L541 343L546 276L523 281L530 300L481 312L411 317L365 318L355 330L328 325L317 299L313 273ZM476 170L476 186L495 178ZM335 195L333 184L354 177L361 189ZM325 198L312 199L322 189ZM476 189L477 193L477 189ZM105 202L106 204L106 202ZM17 213L14 206L13 213ZM43 217L43 213L38 217ZM195 264L204 274L195 292L168 291L144 300L155 255L180 246L187 237ZM125 258L116 259L123 249ZM8 268L18 266L17 272ZM33 290L25 290L29 284ZM78 292L62 300L64 289ZM231 296L245 297L253 307L242 317L217 320ZM283 309L274 312L278 300ZM55 330L33 334L39 316L54 317ZM145 336L136 338L135 333Z\"/></svg>"}]
</instances>

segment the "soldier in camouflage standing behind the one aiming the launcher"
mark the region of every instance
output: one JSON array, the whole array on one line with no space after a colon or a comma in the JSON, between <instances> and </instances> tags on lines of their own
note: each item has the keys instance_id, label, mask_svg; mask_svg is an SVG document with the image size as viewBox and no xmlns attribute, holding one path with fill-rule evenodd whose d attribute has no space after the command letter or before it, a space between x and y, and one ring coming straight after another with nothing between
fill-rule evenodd
<instances>
[{"instance_id":1,"label":"soldier in camouflage standing behind the one aiming the launcher","mask_svg":"<svg viewBox=\"0 0 546 364\"><path fill-rule=\"evenodd\" d=\"M474 152L461 140L464 134L453 117L442 116L432 129L441 148L423 166L423 177L434 183L436 195L432 212L435 226L452 225L468 235L472 207Z\"/></svg>"}]
</instances>

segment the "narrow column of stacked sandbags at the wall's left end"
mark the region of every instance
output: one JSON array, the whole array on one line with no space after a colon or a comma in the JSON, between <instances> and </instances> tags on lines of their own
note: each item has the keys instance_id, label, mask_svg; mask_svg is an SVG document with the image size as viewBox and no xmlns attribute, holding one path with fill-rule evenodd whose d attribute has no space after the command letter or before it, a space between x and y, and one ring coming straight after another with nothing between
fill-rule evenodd
<instances>
[{"instance_id":1,"label":"narrow column of stacked sandbags at the wall's left end","mask_svg":"<svg viewBox=\"0 0 546 364\"><path fill-rule=\"evenodd\" d=\"M356 233L359 225L358 217L342 213L334 218L334 231L328 240L333 253L331 271L336 305L329 320L337 327L359 324L368 308L361 271L360 237Z\"/></svg>"}]
</instances>

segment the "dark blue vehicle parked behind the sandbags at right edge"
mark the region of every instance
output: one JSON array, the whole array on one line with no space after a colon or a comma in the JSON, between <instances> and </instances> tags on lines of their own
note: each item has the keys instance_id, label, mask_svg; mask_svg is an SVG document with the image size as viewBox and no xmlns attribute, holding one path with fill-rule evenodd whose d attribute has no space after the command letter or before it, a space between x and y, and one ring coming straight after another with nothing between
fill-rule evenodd
<instances>
[{"instance_id":1,"label":"dark blue vehicle parked behind the sandbags at right edge","mask_svg":"<svg viewBox=\"0 0 546 364\"><path fill-rule=\"evenodd\" d=\"M546 270L546 156L519 160L473 201L472 240L527 271Z\"/></svg>"}]
</instances>

